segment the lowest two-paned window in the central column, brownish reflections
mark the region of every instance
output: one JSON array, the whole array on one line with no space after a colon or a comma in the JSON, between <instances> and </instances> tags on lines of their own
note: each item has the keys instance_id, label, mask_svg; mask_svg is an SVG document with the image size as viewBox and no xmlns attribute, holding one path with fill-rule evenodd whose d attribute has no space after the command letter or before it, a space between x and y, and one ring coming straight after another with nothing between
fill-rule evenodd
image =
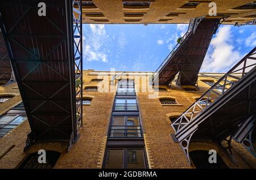
<instances>
[{"instance_id":1,"label":"lowest two-paned window in the central column, brownish reflections","mask_svg":"<svg viewBox=\"0 0 256 180\"><path fill-rule=\"evenodd\" d=\"M108 148L106 169L144 169L146 168L144 148Z\"/></svg>"}]
</instances>

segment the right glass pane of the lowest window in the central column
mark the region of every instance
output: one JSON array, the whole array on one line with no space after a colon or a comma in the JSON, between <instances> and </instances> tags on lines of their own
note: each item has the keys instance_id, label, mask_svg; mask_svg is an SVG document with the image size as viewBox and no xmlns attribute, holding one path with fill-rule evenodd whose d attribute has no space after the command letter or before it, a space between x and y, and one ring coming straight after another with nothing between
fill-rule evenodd
<instances>
[{"instance_id":1,"label":"right glass pane of the lowest window in the central column","mask_svg":"<svg viewBox=\"0 0 256 180\"><path fill-rule=\"evenodd\" d=\"M127 149L127 168L144 169L143 149Z\"/></svg>"}]
</instances>

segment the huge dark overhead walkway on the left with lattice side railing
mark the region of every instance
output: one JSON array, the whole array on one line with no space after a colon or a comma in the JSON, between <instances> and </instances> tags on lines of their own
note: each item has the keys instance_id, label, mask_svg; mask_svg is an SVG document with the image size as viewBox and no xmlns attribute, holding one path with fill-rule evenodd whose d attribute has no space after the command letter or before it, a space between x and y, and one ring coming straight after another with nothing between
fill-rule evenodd
<instances>
[{"instance_id":1,"label":"huge dark overhead walkway on the left with lattice side railing","mask_svg":"<svg viewBox=\"0 0 256 180\"><path fill-rule=\"evenodd\" d=\"M76 142L82 125L81 2L0 1L0 27L35 140ZM68 143L69 142L69 143ZM69 146L70 147L70 146Z\"/></svg>"}]
</instances>

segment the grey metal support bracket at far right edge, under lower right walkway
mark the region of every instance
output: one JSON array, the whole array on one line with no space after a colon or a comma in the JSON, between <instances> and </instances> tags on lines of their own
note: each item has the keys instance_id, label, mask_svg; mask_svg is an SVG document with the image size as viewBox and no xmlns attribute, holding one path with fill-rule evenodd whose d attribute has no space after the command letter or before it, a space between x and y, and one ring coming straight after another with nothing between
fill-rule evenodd
<instances>
[{"instance_id":1,"label":"grey metal support bracket at far right edge, under lower right walkway","mask_svg":"<svg viewBox=\"0 0 256 180\"><path fill-rule=\"evenodd\" d=\"M252 134L255 130L255 119L255 116L248 118L233 137L236 142L241 143L254 157L256 157L256 152Z\"/></svg>"}]
</instances>

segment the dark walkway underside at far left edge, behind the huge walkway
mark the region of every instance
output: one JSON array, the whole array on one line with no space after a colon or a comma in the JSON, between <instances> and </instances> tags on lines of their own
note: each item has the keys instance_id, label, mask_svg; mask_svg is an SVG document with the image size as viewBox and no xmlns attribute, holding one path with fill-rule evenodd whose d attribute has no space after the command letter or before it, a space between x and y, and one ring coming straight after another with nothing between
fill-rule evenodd
<instances>
[{"instance_id":1,"label":"dark walkway underside at far left edge, behind the huge walkway","mask_svg":"<svg viewBox=\"0 0 256 180\"><path fill-rule=\"evenodd\" d=\"M5 46L2 32L0 30L0 83L7 83L11 79L11 63Z\"/></svg>"}]
</instances>

